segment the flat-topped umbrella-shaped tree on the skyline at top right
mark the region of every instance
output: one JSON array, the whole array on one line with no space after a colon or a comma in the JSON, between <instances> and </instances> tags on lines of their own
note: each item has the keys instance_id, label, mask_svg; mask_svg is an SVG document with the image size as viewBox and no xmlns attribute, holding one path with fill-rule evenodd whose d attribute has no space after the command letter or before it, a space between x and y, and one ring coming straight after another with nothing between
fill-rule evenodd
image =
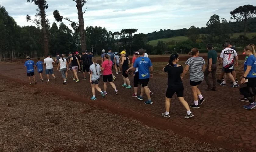
<instances>
[{"instance_id":1,"label":"flat-topped umbrella-shaped tree on the skyline at top right","mask_svg":"<svg viewBox=\"0 0 256 152\"><path fill-rule=\"evenodd\" d=\"M234 19L236 21L244 21L244 35L246 35L247 21L256 15L256 6L239 6L238 8L231 11L230 14L233 16L230 19Z\"/></svg>"}]
</instances>

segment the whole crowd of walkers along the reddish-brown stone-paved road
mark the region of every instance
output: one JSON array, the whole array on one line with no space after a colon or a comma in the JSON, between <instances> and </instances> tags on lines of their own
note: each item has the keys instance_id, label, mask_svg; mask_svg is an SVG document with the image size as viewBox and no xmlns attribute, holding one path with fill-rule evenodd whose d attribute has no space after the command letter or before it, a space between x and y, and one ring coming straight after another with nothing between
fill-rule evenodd
<instances>
[{"instance_id":1,"label":"whole crowd of walkers along the reddish-brown stone-paved road","mask_svg":"<svg viewBox=\"0 0 256 152\"><path fill-rule=\"evenodd\" d=\"M219 82L219 85L226 86L226 82L228 78L231 80L232 88L239 87L238 80L236 78L236 73L234 70L234 66L238 66L238 55L235 50L235 47L232 47L229 41L226 41L223 45L224 49L222 50L219 59L217 56L217 52L213 50L212 44L207 45L208 50L208 63L205 66L205 61L202 57L199 56L199 50L197 48L191 49L189 55L191 57L185 62L186 66L182 67L179 63L179 55L172 54L169 58L168 64L163 68L164 72L168 73L168 81L167 81L167 90L165 94L165 112L162 113L163 117L170 117L170 102L173 95L176 93L179 101L187 110L187 114L185 118L191 118L194 115L190 111L191 108L198 109L203 102L206 101L203 95L201 94L198 85L201 84L202 81L206 81L207 90L208 91L217 91L216 84ZM64 54L57 54L55 61L47 55L44 61L40 61L38 58L38 62L35 64L34 61L30 60L30 57L27 57L27 61L25 62L25 67L27 67L27 76L30 81L30 85L32 85L31 77L33 77L34 83L36 83L34 76L34 69L37 68L38 73L40 74L40 81L43 80L43 64L45 64L45 73L47 74L47 82L49 80L49 73L52 75L54 80L56 80L55 75L53 73L53 63L57 64L57 70L61 72L63 78L63 84L67 84L68 79L68 71L71 71L71 78L73 81L79 82L77 73L80 71L83 72L83 80L86 80L86 73L88 73L91 83L92 89L92 97L91 100L96 100L95 90L100 92L102 97L107 95L107 82L113 88L113 92L115 95L118 94L118 90L116 89L116 85L113 83L116 77L113 74L112 70L115 70L115 74L120 74L120 66L122 66L122 77L123 77L123 85L126 89L131 89L132 85L130 84L130 80L128 75L133 72L133 87L134 93L132 97L137 97L138 100L143 101L143 95L146 94L147 100L144 102L145 104L153 104L151 100L151 95L153 92L150 91L148 87L148 82L150 78L153 77L153 66L151 60L148 58L148 54L146 50L139 49L138 51L133 53L133 59L131 63L131 67L129 67L130 60L128 55L126 54L126 50L123 50L119 53L121 57L119 57L118 52L112 53L111 48L108 48L108 53L105 53L105 50L102 50L101 55L101 65L97 63L97 58L90 52L82 51L82 56L76 53L69 53L69 56L66 58ZM244 108L251 110L255 109L255 95L256 95L256 54L255 54L255 45L249 44L244 47L244 54L246 54L244 65L240 67L240 70L244 68L244 73L242 74L240 81L240 93L243 98L240 98L241 101L250 102L250 104L245 105ZM222 73L220 75L220 79L216 80L216 70L217 70L217 61L219 61L219 65L222 66ZM189 71L189 81L192 90L192 96L194 99L194 103L190 106L187 101L184 99L184 86L183 86L183 78L185 74ZM208 78L208 75L211 73L212 75L212 84ZM104 90L101 90L99 87L100 75L102 75L103 79L103 87ZM222 79L222 80L221 80ZM138 84L141 85L140 95L138 94Z\"/></svg>"}]
</instances>

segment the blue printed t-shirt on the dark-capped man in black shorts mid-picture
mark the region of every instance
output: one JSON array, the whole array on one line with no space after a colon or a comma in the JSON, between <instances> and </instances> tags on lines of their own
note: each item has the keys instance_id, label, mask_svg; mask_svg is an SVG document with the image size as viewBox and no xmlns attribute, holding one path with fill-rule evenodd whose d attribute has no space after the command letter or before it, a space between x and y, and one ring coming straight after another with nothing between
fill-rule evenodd
<instances>
[{"instance_id":1,"label":"blue printed t-shirt on the dark-capped man in black shorts mid-picture","mask_svg":"<svg viewBox=\"0 0 256 152\"><path fill-rule=\"evenodd\" d=\"M149 67L152 66L151 60L147 57L138 57L133 67L138 67L139 70L139 79L148 79L150 77Z\"/></svg>"}]
</instances>

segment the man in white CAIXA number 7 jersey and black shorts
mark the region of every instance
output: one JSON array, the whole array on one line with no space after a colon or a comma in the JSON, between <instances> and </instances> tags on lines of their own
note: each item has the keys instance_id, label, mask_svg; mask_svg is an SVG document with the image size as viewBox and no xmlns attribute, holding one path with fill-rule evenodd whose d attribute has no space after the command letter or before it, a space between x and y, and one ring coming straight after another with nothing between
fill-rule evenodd
<instances>
[{"instance_id":1,"label":"man in white CAIXA number 7 jersey and black shorts","mask_svg":"<svg viewBox=\"0 0 256 152\"><path fill-rule=\"evenodd\" d=\"M233 85L231 85L231 87L238 87L239 85L236 83L233 75L232 75L232 71L234 68L234 59L236 60L235 62L235 66L238 66L238 55L236 53L236 51L234 49L231 49L231 44L229 41L226 41L224 43L224 47L225 49L222 50L220 57L219 57L219 62L222 62L223 59L223 67L224 67L224 81L222 83L220 83L220 85L222 86L226 86L226 80L227 77L230 78L230 80L233 82Z\"/></svg>"}]
</instances>

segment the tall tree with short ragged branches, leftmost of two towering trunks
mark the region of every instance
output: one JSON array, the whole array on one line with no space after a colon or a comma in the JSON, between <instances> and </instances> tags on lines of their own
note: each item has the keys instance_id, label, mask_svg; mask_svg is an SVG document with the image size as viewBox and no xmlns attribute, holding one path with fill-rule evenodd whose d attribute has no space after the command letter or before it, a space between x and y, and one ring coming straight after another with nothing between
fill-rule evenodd
<instances>
[{"instance_id":1,"label":"tall tree with short ragged branches, leftmost of two towering trunks","mask_svg":"<svg viewBox=\"0 0 256 152\"><path fill-rule=\"evenodd\" d=\"M27 15L26 19L27 22L33 22L37 26L41 26L43 29L43 34L44 34L44 55L49 54L49 48L48 48L48 37L47 37L47 23L48 19L46 19L46 14L45 14L45 9L48 9L48 4L46 0L27 0L27 3L33 3L37 5L37 14L35 15L34 21L31 19L31 16ZM39 19L37 19L39 17Z\"/></svg>"}]
</instances>

